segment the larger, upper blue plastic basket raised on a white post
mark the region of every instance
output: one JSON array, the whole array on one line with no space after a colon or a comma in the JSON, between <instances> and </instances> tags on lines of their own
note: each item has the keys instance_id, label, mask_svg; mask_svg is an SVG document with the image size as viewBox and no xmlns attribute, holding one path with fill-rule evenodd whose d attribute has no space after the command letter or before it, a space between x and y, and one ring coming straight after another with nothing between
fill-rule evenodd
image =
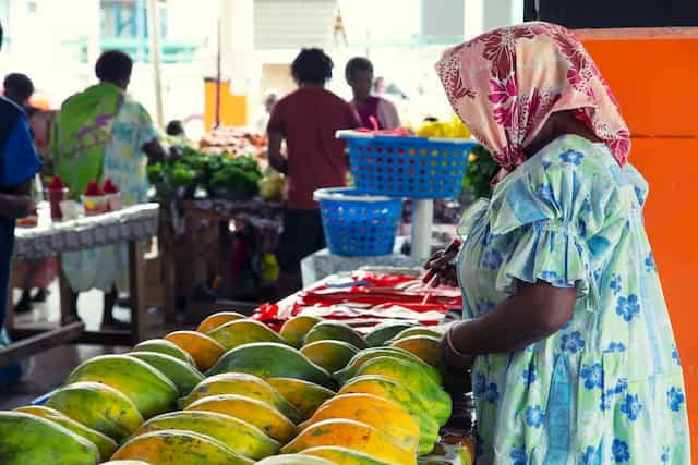
<instances>
[{"instance_id":1,"label":"larger, upper blue plastic basket raised on a white post","mask_svg":"<svg viewBox=\"0 0 698 465\"><path fill-rule=\"evenodd\" d=\"M351 174L358 189L409 198L460 195L470 150L469 139L382 136L339 131L347 140Z\"/></svg>"}]
</instances>

